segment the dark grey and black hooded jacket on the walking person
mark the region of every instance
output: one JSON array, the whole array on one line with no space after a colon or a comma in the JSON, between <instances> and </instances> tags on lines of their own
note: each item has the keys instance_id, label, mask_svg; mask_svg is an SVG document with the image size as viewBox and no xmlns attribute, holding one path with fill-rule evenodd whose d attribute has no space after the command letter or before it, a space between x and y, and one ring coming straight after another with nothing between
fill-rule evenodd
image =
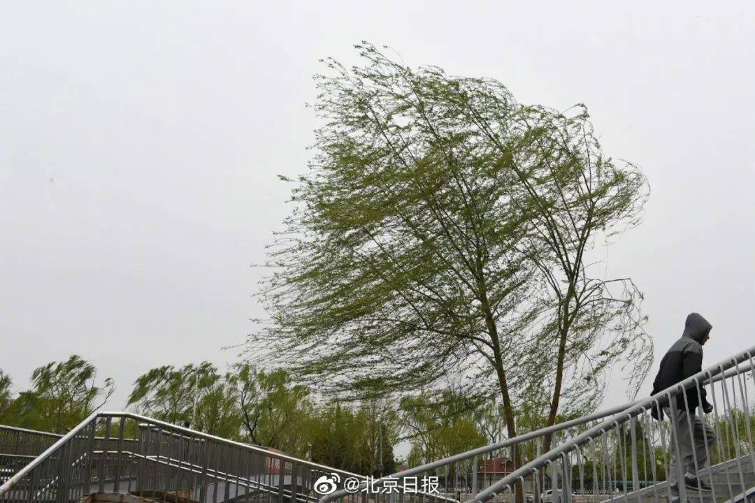
<instances>
[{"instance_id":1,"label":"dark grey and black hooded jacket on the walking person","mask_svg":"<svg viewBox=\"0 0 755 503\"><path fill-rule=\"evenodd\" d=\"M700 314L692 313L687 316L682 338L673 343L661 360L661 367L653 382L652 394L663 391L702 370L703 346L701 342L710 333L711 328L713 326ZM698 400L698 390L689 388L686 391L687 400L683 397L676 400L677 408L694 412L698 405L702 405L704 409L709 409L710 404L706 400L705 389L702 385L698 388L702 403ZM667 400L660 403L661 407L667 404Z\"/></svg>"}]
</instances>

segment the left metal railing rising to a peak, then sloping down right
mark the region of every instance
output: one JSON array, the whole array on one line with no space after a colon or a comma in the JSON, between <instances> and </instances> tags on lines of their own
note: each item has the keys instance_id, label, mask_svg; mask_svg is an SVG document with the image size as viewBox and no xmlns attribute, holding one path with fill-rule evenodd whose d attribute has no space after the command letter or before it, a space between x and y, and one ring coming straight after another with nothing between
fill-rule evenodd
<instances>
[{"instance_id":1,"label":"left metal railing rising to a peak, then sloping down right","mask_svg":"<svg viewBox=\"0 0 755 503\"><path fill-rule=\"evenodd\" d=\"M111 492L202 503L313 503L319 499L316 488L335 490L362 480L366 477L134 413L102 412L57 437L8 477L0 501L69 503Z\"/></svg>"}]
</instances>

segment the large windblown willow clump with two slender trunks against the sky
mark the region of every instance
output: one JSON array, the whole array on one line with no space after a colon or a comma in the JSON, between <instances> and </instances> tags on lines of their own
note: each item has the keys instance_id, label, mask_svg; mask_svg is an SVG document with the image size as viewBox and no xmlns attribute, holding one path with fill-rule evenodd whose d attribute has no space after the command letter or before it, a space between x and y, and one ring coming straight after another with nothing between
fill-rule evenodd
<instances>
[{"instance_id":1,"label":"large windblown willow clump with two slender trunks against the sky","mask_svg":"<svg viewBox=\"0 0 755 503\"><path fill-rule=\"evenodd\" d=\"M461 376L500 401L509 437L527 397L553 423L565 402L594 406L615 363L643 375L639 292L590 265L636 224L639 170L602 154L584 107L357 47L362 66L325 60L316 78L322 127L248 354L354 399Z\"/></svg>"}]
</instances>

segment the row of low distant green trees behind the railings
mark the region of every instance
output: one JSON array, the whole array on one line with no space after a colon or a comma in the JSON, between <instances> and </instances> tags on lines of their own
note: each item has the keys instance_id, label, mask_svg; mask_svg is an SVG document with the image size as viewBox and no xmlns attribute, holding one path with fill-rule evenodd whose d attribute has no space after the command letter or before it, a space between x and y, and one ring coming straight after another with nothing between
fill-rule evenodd
<instances>
[{"instance_id":1,"label":"row of low distant green trees behind the railings","mask_svg":"<svg viewBox=\"0 0 755 503\"><path fill-rule=\"evenodd\" d=\"M0 370L0 424L58 434L100 409L115 389L112 379L100 378L75 354L34 370L25 391L14 394L12 385ZM377 475L396 471L394 447L402 440L410 444L408 462L418 465L501 439L495 407L476 407L450 390L446 397L441 404L424 394L344 402L318 396L280 370L237 363L223 374L202 362L147 371L134 381L126 406L171 424Z\"/></svg>"}]
</instances>

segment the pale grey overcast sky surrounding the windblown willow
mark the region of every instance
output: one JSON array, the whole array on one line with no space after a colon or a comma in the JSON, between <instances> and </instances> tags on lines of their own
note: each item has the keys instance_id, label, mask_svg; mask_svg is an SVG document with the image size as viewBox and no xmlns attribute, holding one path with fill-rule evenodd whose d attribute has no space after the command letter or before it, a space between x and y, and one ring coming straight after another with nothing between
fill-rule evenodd
<instances>
[{"instance_id":1,"label":"pale grey overcast sky surrounding the windblown willow","mask_svg":"<svg viewBox=\"0 0 755 503\"><path fill-rule=\"evenodd\" d=\"M119 409L151 367L236 360L221 348L263 314L250 264L288 212L276 175L303 172L313 141L311 75L362 39L522 103L586 103L652 186L609 263L646 294L656 362L692 310L713 324L706 363L753 344L755 3L362 4L0 3L0 368L17 390L78 353Z\"/></svg>"}]
</instances>

